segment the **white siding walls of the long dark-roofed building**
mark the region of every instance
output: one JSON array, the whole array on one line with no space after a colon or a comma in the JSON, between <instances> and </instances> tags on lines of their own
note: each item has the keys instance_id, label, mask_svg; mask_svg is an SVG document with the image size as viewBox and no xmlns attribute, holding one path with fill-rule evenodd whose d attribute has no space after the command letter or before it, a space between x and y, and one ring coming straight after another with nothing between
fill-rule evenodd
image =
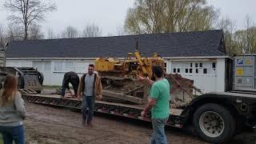
<instances>
[{"instance_id":1,"label":"white siding walls of the long dark-roofed building","mask_svg":"<svg viewBox=\"0 0 256 144\"><path fill-rule=\"evenodd\" d=\"M214 59L169 59L166 61L166 72L181 74L184 78L194 80L203 92L222 92L225 90L225 58ZM213 68L213 62L215 68ZM44 85L61 86L63 75L68 71L75 71L79 76L87 71L87 67L93 60L8 60L6 66L34 66L44 74ZM192 63L192 67L190 64ZM200 67L202 63L202 67ZM198 67L196 67L196 65ZM179 69L179 72L178 72ZM187 70L186 70L187 69ZM190 69L192 71L190 71ZM204 74L204 69L207 71ZM197 73L198 70L198 73ZM192 73L190 73L192 72Z\"/></svg>"}]
</instances>

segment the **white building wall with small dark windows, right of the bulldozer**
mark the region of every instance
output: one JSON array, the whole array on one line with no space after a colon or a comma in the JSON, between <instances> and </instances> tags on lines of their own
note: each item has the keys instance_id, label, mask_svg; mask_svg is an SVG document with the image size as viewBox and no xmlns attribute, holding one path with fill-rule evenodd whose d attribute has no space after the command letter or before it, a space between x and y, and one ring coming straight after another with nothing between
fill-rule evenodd
<instances>
[{"instance_id":1,"label":"white building wall with small dark windows, right of the bulldozer","mask_svg":"<svg viewBox=\"0 0 256 144\"><path fill-rule=\"evenodd\" d=\"M194 86L204 93L225 90L225 58L169 60L167 73L194 80Z\"/></svg>"}]
</instances>

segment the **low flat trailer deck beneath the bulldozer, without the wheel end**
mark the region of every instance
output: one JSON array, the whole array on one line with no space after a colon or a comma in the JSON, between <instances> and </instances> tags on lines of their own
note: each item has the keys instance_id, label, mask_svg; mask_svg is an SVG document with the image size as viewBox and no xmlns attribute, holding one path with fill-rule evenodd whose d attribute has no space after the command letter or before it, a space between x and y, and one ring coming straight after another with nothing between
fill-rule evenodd
<instances>
[{"instance_id":1,"label":"low flat trailer deck beneath the bulldozer, without the wheel end","mask_svg":"<svg viewBox=\"0 0 256 144\"><path fill-rule=\"evenodd\" d=\"M26 102L33 102L49 106L61 106L70 109L81 110L82 101L78 98L60 98L57 94L22 94L22 98ZM114 114L126 118L135 118L150 122L150 113L145 118L141 117L144 105L123 104L118 102L106 102L101 100L95 101L95 112L104 114ZM166 126L183 127L185 118L181 116L183 110L171 109L170 117L166 122Z\"/></svg>"}]
</instances>

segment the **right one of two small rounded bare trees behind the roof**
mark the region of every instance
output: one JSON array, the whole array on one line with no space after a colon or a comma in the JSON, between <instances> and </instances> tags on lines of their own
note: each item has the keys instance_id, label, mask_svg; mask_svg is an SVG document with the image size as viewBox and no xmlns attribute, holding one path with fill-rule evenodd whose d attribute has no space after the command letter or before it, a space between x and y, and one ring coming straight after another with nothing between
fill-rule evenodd
<instances>
[{"instance_id":1,"label":"right one of two small rounded bare trees behind the roof","mask_svg":"<svg viewBox=\"0 0 256 144\"><path fill-rule=\"evenodd\" d=\"M82 37L99 37L101 35L102 30L100 30L99 27L94 23L87 24L82 30Z\"/></svg>"}]
</instances>

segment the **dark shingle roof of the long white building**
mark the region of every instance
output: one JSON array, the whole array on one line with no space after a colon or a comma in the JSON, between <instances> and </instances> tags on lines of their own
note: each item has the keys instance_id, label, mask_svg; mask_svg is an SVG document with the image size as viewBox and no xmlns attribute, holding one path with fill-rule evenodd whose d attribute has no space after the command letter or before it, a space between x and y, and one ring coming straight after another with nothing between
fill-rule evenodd
<instances>
[{"instance_id":1,"label":"dark shingle roof of the long white building","mask_svg":"<svg viewBox=\"0 0 256 144\"><path fill-rule=\"evenodd\" d=\"M222 30L170 34L140 34L99 38L63 38L9 42L7 58L125 58L139 51L162 57L226 56L220 50Z\"/></svg>"}]
</instances>

